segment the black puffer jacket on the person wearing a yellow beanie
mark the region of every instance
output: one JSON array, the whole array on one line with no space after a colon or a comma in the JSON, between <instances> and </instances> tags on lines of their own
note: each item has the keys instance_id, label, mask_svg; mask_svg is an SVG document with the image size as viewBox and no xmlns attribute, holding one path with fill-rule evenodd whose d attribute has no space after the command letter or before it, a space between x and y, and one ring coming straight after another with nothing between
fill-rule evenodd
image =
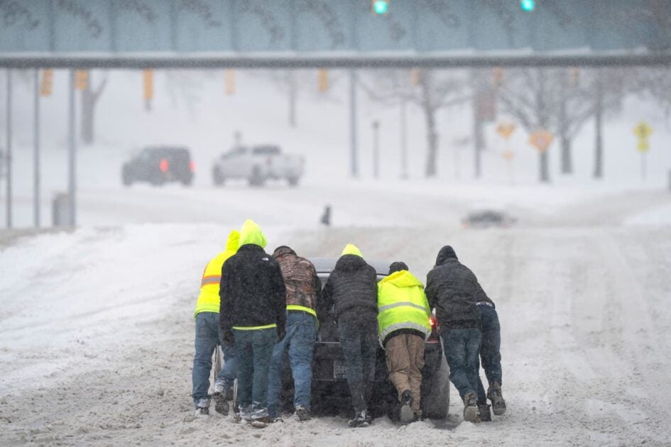
<instances>
[{"instance_id":1,"label":"black puffer jacket on the person wearing a yellow beanie","mask_svg":"<svg viewBox=\"0 0 671 447\"><path fill-rule=\"evenodd\" d=\"M376 271L357 255L342 255L322 291L320 313L334 306L338 320L343 314L378 313L378 282ZM320 318L322 319L322 318Z\"/></svg>"}]
</instances>

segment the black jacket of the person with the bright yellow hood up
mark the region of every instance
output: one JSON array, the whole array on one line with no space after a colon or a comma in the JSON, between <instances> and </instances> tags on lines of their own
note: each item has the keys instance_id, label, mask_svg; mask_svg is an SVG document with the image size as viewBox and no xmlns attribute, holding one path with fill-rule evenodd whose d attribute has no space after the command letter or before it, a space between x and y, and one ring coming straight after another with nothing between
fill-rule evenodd
<instances>
[{"instance_id":1,"label":"black jacket of the person with the bright yellow hood up","mask_svg":"<svg viewBox=\"0 0 671 447\"><path fill-rule=\"evenodd\" d=\"M286 292L277 261L253 243L241 245L222 267L222 329L276 324L285 327Z\"/></svg>"}]
</instances>

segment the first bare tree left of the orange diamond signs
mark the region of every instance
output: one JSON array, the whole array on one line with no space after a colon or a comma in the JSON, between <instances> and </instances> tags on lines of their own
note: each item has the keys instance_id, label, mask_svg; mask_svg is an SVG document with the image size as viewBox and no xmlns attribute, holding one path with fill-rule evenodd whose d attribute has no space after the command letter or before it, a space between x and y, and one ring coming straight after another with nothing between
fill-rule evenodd
<instances>
[{"instance_id":1,"label":"first bare tree left of the orange diamond signs","mask_svg":"<svg viewBox=\"0 0 671 447\"><path fill-rule=\"evenodd\" d=\"M440 109L456 106L468 101L468 83L462 72L439 72L436 70L376 70L374 82L359 77L361 87L373 101L393 106L408 101L422 109L426 121L427 158L425 177L437 175L438 131L436 114ZM375 87L372 87L372 85Z\"/></svg>"}]
</instances>

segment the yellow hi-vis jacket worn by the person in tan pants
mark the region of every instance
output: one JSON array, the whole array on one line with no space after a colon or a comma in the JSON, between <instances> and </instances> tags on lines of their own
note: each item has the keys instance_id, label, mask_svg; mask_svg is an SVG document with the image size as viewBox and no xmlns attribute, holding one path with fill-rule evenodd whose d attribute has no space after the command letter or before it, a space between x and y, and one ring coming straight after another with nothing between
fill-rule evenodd
<instances>
[{"instance_id":1,"label":"yellow hi-vis jacket worn by the person in tan pants","mask_svg":"<svg viewBox=\"0 0 671 447\"><path fill-rule=\"evenodd\" d=\"M431 334L431 309L424 294L424 285L408 270L393 272L378 282L378 339L399 329L414 329ZM384 346L383 346L384 347Z\"/></svg>"}]
</instances>

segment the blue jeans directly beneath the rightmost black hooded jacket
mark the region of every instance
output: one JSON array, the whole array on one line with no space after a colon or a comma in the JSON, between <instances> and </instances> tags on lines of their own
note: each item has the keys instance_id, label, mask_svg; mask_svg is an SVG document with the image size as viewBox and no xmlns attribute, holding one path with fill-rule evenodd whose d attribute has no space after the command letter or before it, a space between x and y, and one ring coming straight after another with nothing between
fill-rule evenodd
<instances>
[{"instance_id":1,"label":"blue jeans directly beneath the rightmost black hooded jacket","mask_svg":"<svg viewBox=\"0 0 671 447\"><path fill-rule=\"evenodd\" d=\"M478 389L480 329L447 329L442 332L442 341L449 380L464 399L465 394Z\"/></svg>"}]
</instances>

